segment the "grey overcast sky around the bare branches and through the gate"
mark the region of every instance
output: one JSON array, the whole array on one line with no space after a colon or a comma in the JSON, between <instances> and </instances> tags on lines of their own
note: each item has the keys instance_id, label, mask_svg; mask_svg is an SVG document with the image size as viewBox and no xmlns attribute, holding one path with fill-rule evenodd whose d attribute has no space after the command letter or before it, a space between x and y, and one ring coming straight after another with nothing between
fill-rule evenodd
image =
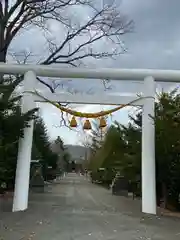
<instances>
[{"instance_id":1,"label":"grey overcast sky around the bare branches and through the gate","mask_svg":"<svg viewBox=\"0 0 180 240\"><path fill-rule=\"evenodd\" d=\"M107 0L106 0L107 1ZM89 61L90 67L115 67L115 68L160 68L160 69L179 69L180 59L180 0L122 0L120 5L122 13L127 14L135 22L134 32L123 36L128 52L119 56L116 60L105 60L95 62ZM81 10L82 18L87 13ZM61 32L57 31L56 26L51 26L52 30L59 37ZM22 41L23 39L23 41ZM21 42L21 44L20 44ZM99 44L99 43L98 43ZM37 48L37 46L39 46ZM35 50L36 55L43 51L43 40L40 33L36 30L23 33L14 41L12 48L23 48ZM103 43L97 47L103 47ZM111 82L112 90L127 93L137 93L141 91L142 83L133 82ZM89 88L95 91L103 91L103 85L95 80L89 82L73 80L68 82L68 88L87 91ZM173 85L160 85L158 88L166 90ZM100 106L82 106L82 111L98 111ZM60 114L57 109L42 106L41 112L48 127L51 138L60 135L66 143L78 144L79 133L69 131L67 128L57 128L60 122ZM122 123L128 121L128 111L122 110L114 115Z\"/></svg>"}]
</instances>

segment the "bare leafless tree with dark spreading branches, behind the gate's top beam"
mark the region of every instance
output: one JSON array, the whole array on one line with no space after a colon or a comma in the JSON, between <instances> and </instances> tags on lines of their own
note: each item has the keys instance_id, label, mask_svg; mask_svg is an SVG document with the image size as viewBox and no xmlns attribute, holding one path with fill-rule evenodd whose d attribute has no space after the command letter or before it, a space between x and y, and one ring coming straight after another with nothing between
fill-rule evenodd
<instances>
[{"instance_id":1,"label":"bare leafless tree with dark spreading branches, behind the gate's top beam","mask_svg":"<svg viewBox=\"0 0 180 240\"><path fill-rule=\"evenodd\" d=\"M92 0L1 0L0 62L6 61L9 46L20 30L30 25L35 25L45 33L49 54L40 64L67 64L77 67L84 63L85 59L113 58L124 53L126 49L121 37L132 31L133 21L123 16L114 3L101 9L98 9L95 3L95 0L94 3ZM72 20L69 13L74 7L83 7L85 11L87 10L86 19L80 22ZM60 40L48 35L50 21L55 21L65 29L64 38L63 34ZM74 44L74 41L77 44ZM97 49L95 43L103 41L109 44L108 47L104 47L105 50ZM26 63L32 55L31 52L21 54L24 57L23 61L22 56L17 54L11 56L18 63ZM43 79L37 79L52 93L62 85L56 84L55 81L50 85ZM109 80L103 80L103 86L105 90L112 88ZM61 114L62 124L65 124L63 113Z\"/></svg>"}]
</instances>

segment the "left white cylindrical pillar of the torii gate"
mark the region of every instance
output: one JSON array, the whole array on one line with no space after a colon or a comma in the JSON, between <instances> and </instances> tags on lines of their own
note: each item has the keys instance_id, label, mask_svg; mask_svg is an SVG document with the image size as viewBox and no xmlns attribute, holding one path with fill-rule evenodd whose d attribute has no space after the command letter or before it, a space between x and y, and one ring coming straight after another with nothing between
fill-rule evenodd
<instances>
[{"instance_id":1,"label":"left white cylindrical pillar of the torii gate","mask_svg":"<svg viewBox=\"0 0 180 240\"><path fill-rule=\"evenodd\" d=\"M33 71L25 73L23 83L24 91L33 91L36 84L35 73ZM25 92L22 96L22 113L26 113L35 107L32 94ZM24 137L19 139L13 212L26 210L28 207L33 125L34 120L31 120L29 127L24 128Z\"/></svg>"}]
</instances>

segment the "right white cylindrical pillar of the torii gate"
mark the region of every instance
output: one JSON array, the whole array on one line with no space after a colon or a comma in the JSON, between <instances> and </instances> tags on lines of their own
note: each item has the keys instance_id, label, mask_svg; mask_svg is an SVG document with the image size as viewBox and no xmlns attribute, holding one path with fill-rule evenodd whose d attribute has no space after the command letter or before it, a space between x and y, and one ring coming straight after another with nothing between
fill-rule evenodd
<instances>
[{"instance_id":1,"label":"right white cylindrical pillar of the torii gate","mask_svg":"<svg viewBox=\"0 0 180 240\"><path fill-rule=\"evenodd\" d=\"M155 176L155 127L154 99L155 82L152 77L144 79L144 100L142 114L142 212L156 214Z\"/></svg>"}]
</instances>

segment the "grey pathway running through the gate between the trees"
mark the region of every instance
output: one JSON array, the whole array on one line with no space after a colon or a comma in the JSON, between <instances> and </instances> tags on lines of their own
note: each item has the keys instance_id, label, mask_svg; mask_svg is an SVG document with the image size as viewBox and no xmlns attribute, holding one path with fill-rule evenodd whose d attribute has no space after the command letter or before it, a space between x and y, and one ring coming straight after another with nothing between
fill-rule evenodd
<instances>
[{"instance_id":1,"label":"grey pathway running through the gate between the trees","mask_svg":"<svg viewBox=\"0 0 180 240\"><path fill-rule=\"evenodd\" d=\"M145 216L139 201L69 174L44 194L30 196L26 212L0 212L0 240L180 239L180 220Z\"/></svg>"}]
</instances>

